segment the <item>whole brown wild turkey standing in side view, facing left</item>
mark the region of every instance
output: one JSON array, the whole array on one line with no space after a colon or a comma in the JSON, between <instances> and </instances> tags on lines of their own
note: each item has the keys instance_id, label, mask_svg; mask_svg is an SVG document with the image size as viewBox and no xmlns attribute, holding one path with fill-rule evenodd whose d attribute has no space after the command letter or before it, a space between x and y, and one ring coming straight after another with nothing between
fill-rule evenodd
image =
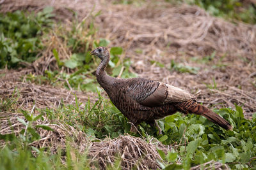
<instances>
[{"instance_id":1,"label":"whole brown wild turkey standing in side view, facing left","mask_svg":"<svg viewBox=\"0 0 256 170\"><path fill-rule=\"evenodd\" d=\"M91 55L97 55L101 59L96 71L97 81L106 90L116 108L134 124L131 132L136 132L135 127L143 121L154 125L156 119L172 115L177 111L202 115L214 124L232 130L227 120L196 103L196 97L189 92L145 78L125 79L108 76L105 71L109 62L108 48L104 46L95 48ZM161 132L159 127L158 129Z\"/></svg>"}]
</instances>

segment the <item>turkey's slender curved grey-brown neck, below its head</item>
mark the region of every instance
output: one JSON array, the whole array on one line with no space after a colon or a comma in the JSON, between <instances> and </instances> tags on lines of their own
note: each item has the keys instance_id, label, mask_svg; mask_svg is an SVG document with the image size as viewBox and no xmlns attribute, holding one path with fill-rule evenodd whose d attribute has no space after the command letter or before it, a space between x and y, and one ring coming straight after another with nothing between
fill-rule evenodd
<instances>
[{"instance_id":1,"label":"turkey's slender curved grey-brown neck, below its head","mask_svg":"<svg viewBox=\"0 0 256 170\"><path fill-rule=\"evenodd\" d=\"M104 59L100 62L96 71L97 81L99 82L100 86L103 87L104 90L106 90L107 93L109 92L109 89L113 87L113 84L115 83L116 79L114 77L109 76L105 71L108 62L109 54L106 57L104 57Z\"/></svg>"}]
</instances>

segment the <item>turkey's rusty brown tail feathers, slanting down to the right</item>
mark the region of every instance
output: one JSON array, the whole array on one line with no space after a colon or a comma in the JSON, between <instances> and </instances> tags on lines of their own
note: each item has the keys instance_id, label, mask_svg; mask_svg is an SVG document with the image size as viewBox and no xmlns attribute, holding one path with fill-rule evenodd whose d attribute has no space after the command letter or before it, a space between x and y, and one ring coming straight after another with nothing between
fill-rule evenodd
<instances>
[{"instance_id":1,"label":"turkey's rusty brown tail feathers, slanting down to the right","mask_svg":"<svg viewBox=\"0 0 256 170\"><path fill-rule=\"evenodd\" d=\"M188 102L179 103L177 105L179 110L182 111L183 113L189 112L189 113L194 113L196 115L202 115L208 120L210 120L211 122L213 122L214 124L220 125L220 127L223 127L224 129L229 129L229 130L233 129L232 125L230 125L230 123L227 122L227 120L220 117L219 115L209 110L208 108L205 108L205 106L202 106L196 103L196 101L189 100Z\"/></svg>"}]
</instances>

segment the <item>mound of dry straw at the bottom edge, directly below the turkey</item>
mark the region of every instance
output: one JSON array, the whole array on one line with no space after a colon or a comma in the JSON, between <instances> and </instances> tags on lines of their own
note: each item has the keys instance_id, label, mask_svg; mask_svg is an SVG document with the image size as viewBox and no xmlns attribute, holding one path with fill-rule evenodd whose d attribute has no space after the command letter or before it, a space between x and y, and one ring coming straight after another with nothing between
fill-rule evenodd
<instances>
[{"instance_id":1,"label":"mound of dry straw at the bottom edge, directly below the turkey","mask_svg":"<svg viewBox=\"0 0 256 170\"><path fill-rule=\"evenodd\" d=\"M156 141L155 141L156 142ZM104 139L98 143L93 143L89 149L89 157L98 160L101 169L105 169L108 164L112 164L118 157L122 160L122 169L157 169L160 168L156 160L161 160L156 148L168 151L161 143L150 141L133 136L119 136L116 139Z\"/></svg>"}]
</instances>

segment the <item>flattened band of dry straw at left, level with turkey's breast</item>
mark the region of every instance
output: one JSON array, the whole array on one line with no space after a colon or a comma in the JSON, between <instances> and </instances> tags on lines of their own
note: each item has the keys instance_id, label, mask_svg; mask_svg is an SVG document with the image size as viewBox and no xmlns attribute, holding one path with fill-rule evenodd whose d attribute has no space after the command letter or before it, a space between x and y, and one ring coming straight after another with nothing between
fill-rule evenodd
<instances>
[{"instance_id":1,"label":"flattened band of dry straw at left, level with turkey's breast","mask_svg":"<svg viewBox=\"0 0 256 170\"><path fill-rule=\"evenodd\" d=\"M95 94L92 92L77 92L76 90L56 88L50 85L35 85L27 82L22 83L20 81L1 83L0 95L2 99L17 98L18 107L23 110L29 110L35 104L36 108L58 108L63 103L75 104L76 97L81 103L86 103L89 97L92 101L95 101ZM82 104L81 107L83 106Z\"/></svg>"}]
</instances>

